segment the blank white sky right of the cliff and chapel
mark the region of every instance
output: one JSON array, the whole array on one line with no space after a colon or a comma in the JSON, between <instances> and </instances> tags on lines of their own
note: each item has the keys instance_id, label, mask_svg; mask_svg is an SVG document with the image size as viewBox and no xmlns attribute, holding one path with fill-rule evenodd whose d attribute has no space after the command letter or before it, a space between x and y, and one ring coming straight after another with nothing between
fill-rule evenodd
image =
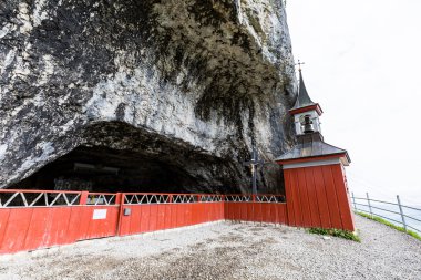
<instances>
[{"instance_id":1,"label":"blank white sky right of the cliff and chapel","mask_svg":"<svg viewBox=\"0 0 421 280\"><path fill-rule=\"evenodd\" d=\"M351 191L421 205L421 0L287 0L287 14Z\"/></svg>"}]
</instances>

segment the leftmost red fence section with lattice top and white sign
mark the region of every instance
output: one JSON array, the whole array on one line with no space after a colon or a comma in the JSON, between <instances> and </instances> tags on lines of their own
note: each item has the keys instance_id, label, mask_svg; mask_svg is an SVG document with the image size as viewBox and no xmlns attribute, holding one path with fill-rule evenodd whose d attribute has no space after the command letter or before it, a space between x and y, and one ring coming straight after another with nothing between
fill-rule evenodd
<instances>
[{"instance_id":1,"label":"leftmost red fence section with lattice top and white sign","mask_svg":"<svg viewBox=\"0 0 421 280\"><path fill-rule=\"evenodd\" d=\"M0 253L115 236L119 197L86 191L1 190Z\"/></svg>"}]
</instances>

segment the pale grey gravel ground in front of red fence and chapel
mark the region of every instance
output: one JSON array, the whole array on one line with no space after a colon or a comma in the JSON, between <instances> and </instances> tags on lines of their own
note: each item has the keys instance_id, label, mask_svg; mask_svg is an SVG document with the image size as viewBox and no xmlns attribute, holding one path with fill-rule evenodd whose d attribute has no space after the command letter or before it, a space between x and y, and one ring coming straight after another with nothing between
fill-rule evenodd
<instances>
[{"instance_id":1,"label":"pale grey gravel ground in front of red fence and chapel","mask_svg":"<svg viewBox=\"0 0 421 280\"><path fill-rule=\"evenodd\" d=\"M420 279L421 242L357 217L362 242L222 222L0 258L0 279Z\"/></svg>"}]
</instances>

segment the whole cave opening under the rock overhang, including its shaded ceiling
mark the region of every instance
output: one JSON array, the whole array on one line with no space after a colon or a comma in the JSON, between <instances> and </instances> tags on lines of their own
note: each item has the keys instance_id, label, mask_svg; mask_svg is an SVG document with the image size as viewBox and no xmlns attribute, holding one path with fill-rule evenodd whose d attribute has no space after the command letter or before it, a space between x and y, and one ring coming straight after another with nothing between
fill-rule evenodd
<instances>
[{"instance_id":1,"label":"whole cave opening under the rock overhang, including its shaded ceiling","mask_svg":"<svg viewBox=\"0 0 421 280\"><path fill-rule=\"evenodd\" d=\"M74 136L78 137L78 136ZM81 144L10 188L106 193L233 193L235 163L123 122L85 127Z\"/></svg>"}]
</instances>

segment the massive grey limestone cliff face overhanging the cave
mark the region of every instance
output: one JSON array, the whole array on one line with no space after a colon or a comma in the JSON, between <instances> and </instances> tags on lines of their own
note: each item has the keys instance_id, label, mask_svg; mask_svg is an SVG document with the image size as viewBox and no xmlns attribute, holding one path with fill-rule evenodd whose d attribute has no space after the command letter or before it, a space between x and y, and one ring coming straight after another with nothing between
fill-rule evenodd
<instances>
[{"instance_id":1,"label":"massive grey limestone cliff face overhanging the cave","mask_svg":"<svg viewBox=\"0 0 421 280\"><path fill-rule=\"evenodd\" d=\"M253 143L291 145L295 84L281 0L1 1L0 186L68 156L246 191Z\"/></svg>"}]
</instances>

